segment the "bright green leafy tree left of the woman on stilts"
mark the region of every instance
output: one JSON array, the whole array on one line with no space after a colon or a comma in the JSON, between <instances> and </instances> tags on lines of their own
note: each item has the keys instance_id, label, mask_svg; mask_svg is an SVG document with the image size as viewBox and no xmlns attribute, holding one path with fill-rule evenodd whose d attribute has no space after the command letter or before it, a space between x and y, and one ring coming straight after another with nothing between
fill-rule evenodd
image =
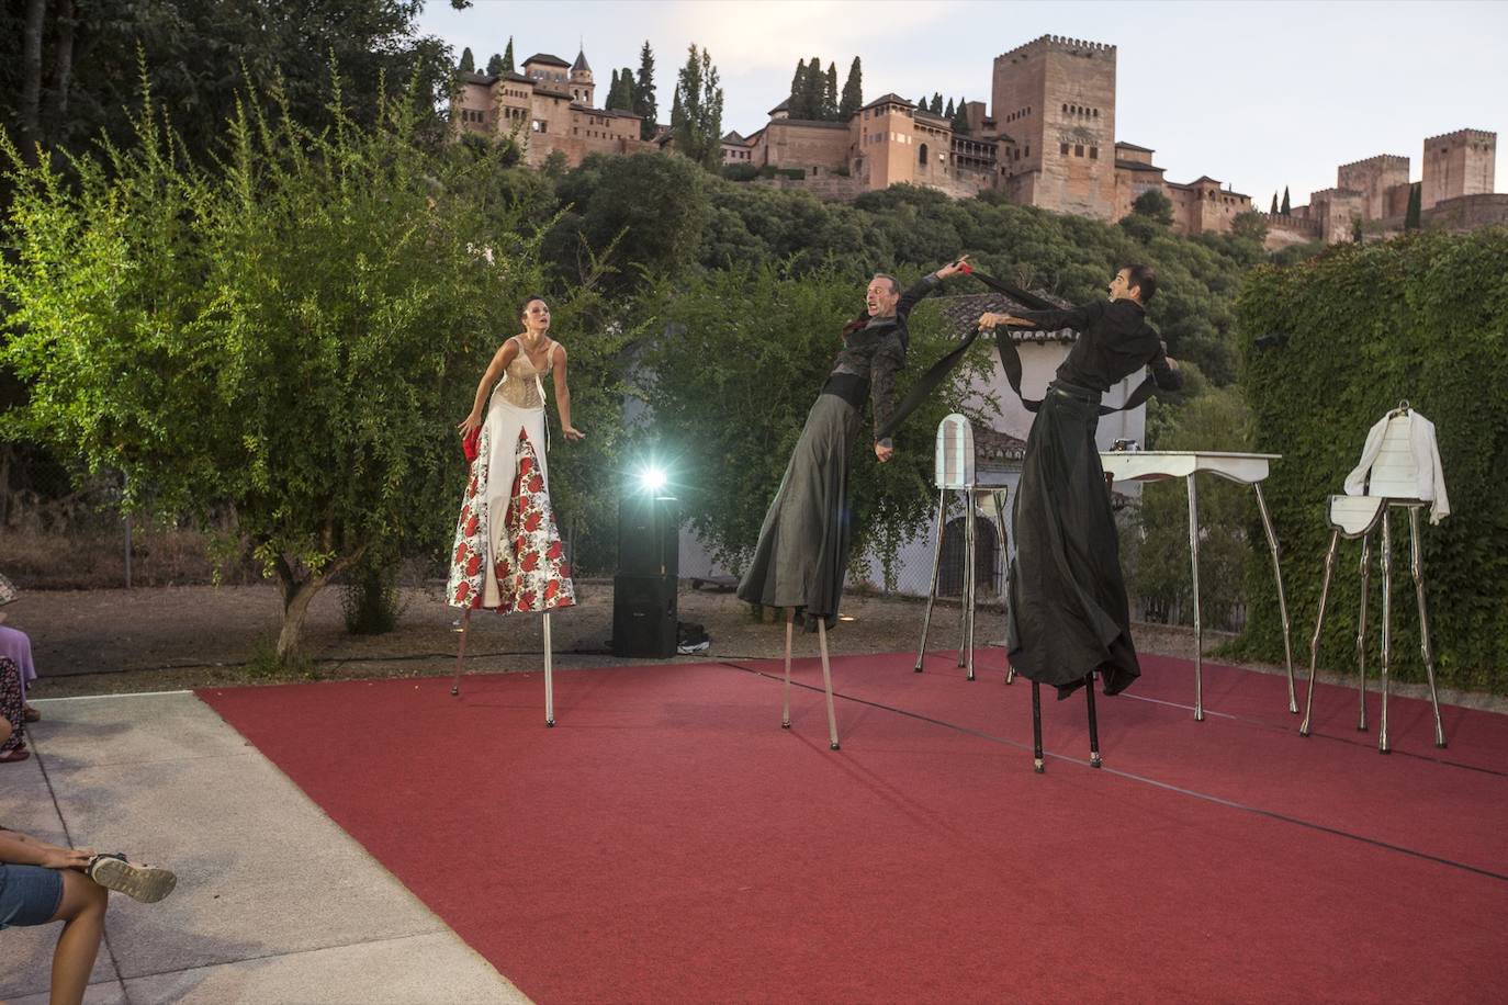
<instances>
[{"instance_id":1,"label":"bright green leafy tree left of the woman on stilts","mask_svg":"<svg viewBox=\"0 0 1508 1005\"><path fill-rule=\"evenodd\" d=\"M380 101L371 128L339 89L329 101L333 128L311 130L285 96L249 99L216 172L176 155L155 105L131 149L77 161L75 191L0 149L17 181L0 365L29 389L9 431L124 472L127 508L234 514L279 585L284 660L309 601L375 541L448 545L454 416L543 288L513 211L454 194L472 152L434 157L410 99Z\"/></svg>"}]
</instances>

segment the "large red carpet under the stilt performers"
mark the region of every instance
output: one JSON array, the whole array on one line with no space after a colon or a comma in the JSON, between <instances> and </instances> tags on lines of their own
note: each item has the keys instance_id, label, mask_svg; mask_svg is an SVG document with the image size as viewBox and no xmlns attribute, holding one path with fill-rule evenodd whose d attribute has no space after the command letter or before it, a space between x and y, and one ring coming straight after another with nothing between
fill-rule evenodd
<instances>
[{"instance_id":1,"label":"large red carpet under the stilt performers","mask_svg":"<svg viewBox=\"0 0 1508 1005\"><path fill-rule=\"evenodd\" d=\"M1191 664L1148 657L1104 771L1044 695L1036 776L998 651L911 663L834 661L841 752L820 690L787 732L715 663L556 674L556 729L537 674L201 698L540 1002L1508 994L1503 717L1451 708L1436 750L1396 701L1381 756L1354 692L1303 740L1282 678L1206 664L1196 723Z\"/></svg>"}]
</instances>

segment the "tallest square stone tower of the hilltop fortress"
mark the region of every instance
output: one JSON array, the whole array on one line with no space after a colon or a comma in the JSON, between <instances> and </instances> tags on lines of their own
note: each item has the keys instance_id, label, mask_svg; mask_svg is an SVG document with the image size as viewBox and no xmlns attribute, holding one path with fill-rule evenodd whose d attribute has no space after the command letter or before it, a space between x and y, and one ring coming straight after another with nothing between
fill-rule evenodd
<instances>
[{"instance_id":1,"label":"tallest square stone tower of the hilltop fortress","mask_svg":"<svg viewBox=\"0 0 1508 1005\"><path fill-rule=\"evenodd\" d=\"M1044 35L997 56L991 105L1015 142L1012 200L1114 218L1114 45Z\"/></svg>"}]
</instances>

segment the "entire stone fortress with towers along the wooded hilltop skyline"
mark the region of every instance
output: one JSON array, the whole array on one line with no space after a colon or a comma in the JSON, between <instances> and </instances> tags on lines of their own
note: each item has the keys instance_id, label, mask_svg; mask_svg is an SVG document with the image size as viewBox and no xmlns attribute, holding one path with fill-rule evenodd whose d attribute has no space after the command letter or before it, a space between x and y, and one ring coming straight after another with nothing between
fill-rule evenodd
<instances>
[{"instance_id":1,"label":"entire stone fortress with towers along the wooded hilltop skyline","mask_svg":"<svg viewBox=\"0 0 1508 1005\"><path fill-rule=\"evenodd\" d=\"M575 63L537 53L523 72L467 74L452 105L458 131L525 139L526 161L544 164L559 151L570 166L591 152L633 154L673 146L668 130L641 140L641 119L593 105L585 53ZM793 119L789 102L752 133L722 139L725 164L778 172L760 184L854 199L894 184L936 188L955 197L1001 190L1019 205L1119 220L1136 199L1161 191L1179 234L1224 232L1249 196L1205 175L1164 178L1155 151L1116 139L1116 47L1044 35L994 60L989 108L965 102L968 131L894 93L861 107L847 122ZM1508 194L1494 196L1494 133L1461 130L1425 140L1422 221L1469 229L1508 221ZM1411 184L1408 158L1383 155L1344 164L1335 188L1316 191L1289 214L1262 214L1268 246L1351 240L1401 231Z\"/></svg>"}]
</instances>

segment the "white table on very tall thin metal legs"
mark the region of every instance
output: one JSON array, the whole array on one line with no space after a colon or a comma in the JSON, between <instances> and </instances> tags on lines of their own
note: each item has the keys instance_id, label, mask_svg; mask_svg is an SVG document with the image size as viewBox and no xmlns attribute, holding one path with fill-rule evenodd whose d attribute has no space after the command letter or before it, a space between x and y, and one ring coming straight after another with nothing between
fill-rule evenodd
<instances>
[{"instance_id":1,"label":"white table on very tall thin metal legs","mask_svg":"<svg viewBox=\"0 0 1508 1005\"><path fill-rule=\"evenodd\" d=\"M1256 508L1262 514L1262 529L1267 532L1267 548L1273 556L1273 579L1277 580L1277 613L1283 619L1283 658L1288 667L1288 711L1298 711L1294 695L1294 649L1288 636L1288 601L1283 598L1283 571L1277 562L1277 535L1262 499L1262 479L1271 470L1271 461L1282 454L1232 454L1223 451L1101 451L1099 463L1105 475L1114 481L1161 482L1182 478L1188 485L1188 553L1194 579L1194 719L1203 722L1203 625L1199 619L1199 494L1194 475L1206 472L1232 482L1250 485L1256 493Z\"/></svg>"}]
</instances>

